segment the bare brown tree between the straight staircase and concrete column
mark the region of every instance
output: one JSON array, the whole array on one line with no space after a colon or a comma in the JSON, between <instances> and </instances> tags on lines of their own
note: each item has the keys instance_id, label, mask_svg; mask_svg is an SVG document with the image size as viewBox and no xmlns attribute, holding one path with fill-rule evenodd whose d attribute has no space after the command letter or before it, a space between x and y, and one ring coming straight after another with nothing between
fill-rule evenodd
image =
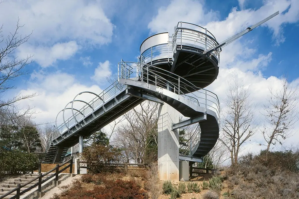
<instances>
[{"instance_id":1,"label":"bare brown tree between the straight staircase and concrete column","mask_svg":"<svg viewBox=\"0 0 299 199\"><path fill-rule=\"evenodd\" d=\"M116 145L123 148L127 157L143 163L144 152L149 140L157 133L157 104L145 101L140 106L124 114L125 121L116 133Z\"/></svg>"}]
</instances>

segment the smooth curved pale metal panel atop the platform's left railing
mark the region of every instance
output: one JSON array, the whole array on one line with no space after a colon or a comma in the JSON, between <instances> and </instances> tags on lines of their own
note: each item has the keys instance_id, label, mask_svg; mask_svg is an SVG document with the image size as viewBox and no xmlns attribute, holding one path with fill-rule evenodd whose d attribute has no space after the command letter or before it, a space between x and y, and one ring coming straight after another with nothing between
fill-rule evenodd
<instances>
[{"instance_id":1,"label":"smooth curved pale metal panel atop the platform's left railing","mask_svg":"<svg viewBox=\"0 0 299 199\"><path fill-rule=\"evenodd\" d=\"M169 42L169 33L158 33L146 38L140 45L140 53L149 49L150 47L157 46L160 44L168 44Z\"/></svg>"}]
</instances>

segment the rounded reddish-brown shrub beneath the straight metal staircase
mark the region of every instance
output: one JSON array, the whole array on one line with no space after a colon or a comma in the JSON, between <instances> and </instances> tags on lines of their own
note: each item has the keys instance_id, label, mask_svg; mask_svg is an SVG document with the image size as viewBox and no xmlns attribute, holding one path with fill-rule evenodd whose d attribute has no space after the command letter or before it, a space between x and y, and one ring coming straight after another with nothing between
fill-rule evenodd
<instances>
[{"instance_id":1,"label":"rounded reddish-brown shrub beneath the straight metal staircase","mask_svg":"<svg viewBox=\"0 0 299 199\"><path fill-rule=\"evenodd\" d=\"M120 158L120 151L112 146L103 146L98 144L92 144L84 148L83 159L87 162L89 172L112 172L114 166L107 166L107 163L116 163Z\"/></svg>"}]
</instances>

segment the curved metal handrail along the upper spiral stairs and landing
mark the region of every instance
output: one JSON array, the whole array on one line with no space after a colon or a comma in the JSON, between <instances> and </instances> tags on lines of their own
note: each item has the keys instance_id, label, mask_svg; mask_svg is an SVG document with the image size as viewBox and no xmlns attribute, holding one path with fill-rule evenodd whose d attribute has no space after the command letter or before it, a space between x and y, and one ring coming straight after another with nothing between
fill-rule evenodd
<instances>
[{"instance_id":1,"label":"curved metal handrail along the upper spiral stairs and landing","mask_svg":"<svg viewBox=\"0 0 299 199\"><path fill-rule=\"evenodd\" d=\"M149 64L121 61L118 63L118 65L120 66L118 67L120 69L118 71L118 78L136 78L139 81L143 81L147 84L153 84L159 87L167 88L168 90L171 90L179 95L179 98L184 97L198 105L202 104L205 107L205 112L207 112L207 109L215 110L218 117L218 122L220 122L220 103L215 93L196 87L194 84L180 77L179 75ZM127 66L129 66L130 69L127 69ZM132 71L132 68L135 70ZM127 73L124 72L124 70L131 70L130 77L122 75ZM134 74L136 75L134 76ZM187 89L186 86L189 89Z\"/></svg>"}]
</instances>

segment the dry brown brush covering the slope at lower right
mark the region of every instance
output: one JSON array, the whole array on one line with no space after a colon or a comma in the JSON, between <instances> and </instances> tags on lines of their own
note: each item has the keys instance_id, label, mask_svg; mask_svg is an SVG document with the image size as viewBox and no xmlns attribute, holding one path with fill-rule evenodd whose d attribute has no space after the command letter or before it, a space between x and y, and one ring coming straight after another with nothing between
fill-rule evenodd
<instances>
[{"instance_id":1,"label":"dry brown brush covering the slope at lower right","mask_svg":"<svg viewBox=\"0 0 299 199\"><path fill-rule=\"evenodd\" d=\"M299 198L299 152L246 155L226 171L228 192L235 199Z\"/></svg>"}]
</instances>

